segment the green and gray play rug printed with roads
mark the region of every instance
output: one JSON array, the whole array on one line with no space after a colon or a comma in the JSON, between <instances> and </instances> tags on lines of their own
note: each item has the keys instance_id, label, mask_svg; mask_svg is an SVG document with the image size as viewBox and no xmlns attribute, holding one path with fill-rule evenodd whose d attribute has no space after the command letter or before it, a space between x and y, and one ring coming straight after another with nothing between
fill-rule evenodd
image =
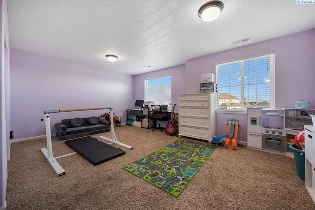
<instances>
[{"instance_id":1,"label":"green and gray play rug printed with roads","mask_svg":"<svg viewBox=\"0 0 315 210\"><path fill-rule=\"evenodd\" d=\"M178 197L216 146L179 139L124 169Z\"/></svg>"}]
</instances>

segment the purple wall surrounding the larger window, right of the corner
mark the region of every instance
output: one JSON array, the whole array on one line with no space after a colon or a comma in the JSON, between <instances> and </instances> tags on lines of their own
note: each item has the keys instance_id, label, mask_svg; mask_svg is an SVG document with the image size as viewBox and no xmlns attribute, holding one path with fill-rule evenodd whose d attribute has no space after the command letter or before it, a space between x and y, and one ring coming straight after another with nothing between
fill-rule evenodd
<instances>
[{"instance_id":1,"label":"purple wall surrounding the larger window, right of the corner","mask_svg":"<svg viewBox=\"0 0 315 210\"><path fill-rule=\"evenodd\" d=\"M295 107L301 97L315 108L315 29L186 61L186 93L198 92L201 74L216 72L216 63L275 52L275 109ZM247 141L247 117L216 115L216 135L226 134L226 120L240 120L239 140ZM278 123L281 123L278 121Z\"/></svg>"}]
</instances>

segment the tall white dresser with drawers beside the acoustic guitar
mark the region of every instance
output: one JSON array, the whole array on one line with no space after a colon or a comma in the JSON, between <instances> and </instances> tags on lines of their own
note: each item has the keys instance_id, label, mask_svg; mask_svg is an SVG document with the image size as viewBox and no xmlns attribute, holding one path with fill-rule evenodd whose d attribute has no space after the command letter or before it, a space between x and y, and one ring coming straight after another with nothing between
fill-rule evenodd
<instances>
[{"instance_id":1,"label":"tall white dresser with drawers beside the acoustic guitar","mask_svg":"<svg viewBox=\"0 0 315 210\"><path fill-rule=\"evenodd\" d=\"M210 141L216 131L215 93L179 94L178 135Z\"/></svg>"}]
</instances>

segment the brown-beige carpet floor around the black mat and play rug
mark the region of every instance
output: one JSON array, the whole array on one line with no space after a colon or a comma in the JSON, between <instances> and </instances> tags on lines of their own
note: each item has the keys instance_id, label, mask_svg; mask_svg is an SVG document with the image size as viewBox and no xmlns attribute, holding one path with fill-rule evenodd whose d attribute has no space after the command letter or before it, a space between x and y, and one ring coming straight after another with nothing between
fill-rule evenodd
<instances>
[{"instance_id":1,"label":"brown-beige carpet floor around the black mat and play rug","mask_svg":"<svg viewBox=\"0 0 315 210\"><path fill-rule=\"evenodd\" d=\"M125 155L97 166L79 154L60 158L66 171L62 177L57 177L40 151L46 147L45 138L12 143L7 209L315 210L293 158L219 147L176 198L122 167L179 137L128 125L115 127L115 133L134 149L123 149ZM110 132L92 137L100 135L109 137ZM52 142L55 157L73 152L57 137Z\"/></svg>"}]
</instances>

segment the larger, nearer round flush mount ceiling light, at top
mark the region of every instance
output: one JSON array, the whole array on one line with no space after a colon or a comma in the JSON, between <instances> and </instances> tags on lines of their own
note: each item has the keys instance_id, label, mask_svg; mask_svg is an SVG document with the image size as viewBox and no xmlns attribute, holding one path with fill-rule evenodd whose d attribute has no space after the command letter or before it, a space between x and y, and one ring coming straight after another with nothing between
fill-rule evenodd
<instances>
[{"instance_id":1,"label":"larger, nearer round flush mount ceiling light, at top","mask_svg":"<svg viewBox=\"0 0 315 210\"><path fill-rule=\"evenodd\" d=\"M223 2L219 0L209 1L200 7L198 15L203 21L210 22L219 17L223 7Z\"/></svg>"}]
</instances>

